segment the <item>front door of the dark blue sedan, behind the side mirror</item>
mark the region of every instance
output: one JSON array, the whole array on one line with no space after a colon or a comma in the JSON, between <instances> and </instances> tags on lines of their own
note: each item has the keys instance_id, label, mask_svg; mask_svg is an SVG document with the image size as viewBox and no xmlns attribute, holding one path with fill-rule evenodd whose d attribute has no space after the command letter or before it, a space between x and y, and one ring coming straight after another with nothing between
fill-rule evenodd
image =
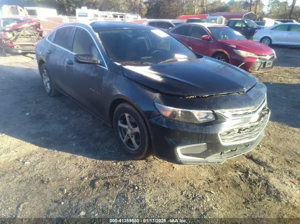
<instances>
[{"instance_id":1,"label":"front door of the dark blue sedan, behind the side mirror","mask_svg":"<svg viewBox=\"0 0 300 224\"><path fill-rule=\"evenodd\" d=\"M94 114L102 117L102 89L108 70L89 30L76 27L71 42L71 51L73 54L90 53L103 63L102 65L81 64L72 59L72 72L68 74L70 83L72 83L73 98Z\"/></svg>"}]
</instances>

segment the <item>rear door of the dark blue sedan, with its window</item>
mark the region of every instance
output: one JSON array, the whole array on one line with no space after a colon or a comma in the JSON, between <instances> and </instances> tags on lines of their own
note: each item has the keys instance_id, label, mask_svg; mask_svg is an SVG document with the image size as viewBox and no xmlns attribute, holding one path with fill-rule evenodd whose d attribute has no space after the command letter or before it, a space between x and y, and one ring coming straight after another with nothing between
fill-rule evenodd
<instances>
[{"instance_id":1,"label":"rear door of the dark blue sedan, with its window","mask_svg":"<svg viewBox=\"0 0 300 224\"><path fill-rule=\"evenodd\" d=\"M67 73L70 72L67 58L73 56L69 50L73 29L73 26L64 26L56 29L53 35L47 37L50 44L47 44L45 49L46 64L52 81L67 94L71 93L67 77Z\"/></svg>"}]
</instances>

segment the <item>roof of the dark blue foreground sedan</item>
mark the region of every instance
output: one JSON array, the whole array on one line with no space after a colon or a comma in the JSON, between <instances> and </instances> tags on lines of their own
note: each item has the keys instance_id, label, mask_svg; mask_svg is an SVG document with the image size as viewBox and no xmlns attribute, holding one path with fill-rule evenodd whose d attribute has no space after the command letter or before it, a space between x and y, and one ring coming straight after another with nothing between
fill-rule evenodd
<instances>
[{"instance_id":1,"label":"roof of the dark blue foreground sedan","mask_svg":"<svg viewBox=\"0 0 300 224\"><path fill-rule=\"evenodd\" d=\"M84 23L81 23L84 24ZM114 21L94 21L89 24L94 30L101 29L121 29L121 28L141 28L141 29L155 29L152 26L132 22L114 22Z\"/></svg>"}]
</instances>

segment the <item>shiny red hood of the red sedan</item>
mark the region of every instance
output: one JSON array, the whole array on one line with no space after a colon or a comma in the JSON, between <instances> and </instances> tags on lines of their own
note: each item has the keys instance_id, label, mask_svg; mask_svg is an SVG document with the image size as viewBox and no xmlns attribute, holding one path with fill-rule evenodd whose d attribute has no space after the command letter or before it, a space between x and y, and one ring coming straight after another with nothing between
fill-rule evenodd
<instances>
[{"instance_id":1,"label":"shiny red hood of the red sedan","mask_svg":"<svg viewBox=\"0 0 300 224\"><path fill-rule=\"evenodd\" d=\"M262 43L252 40L220 40L223 43L235 45L235 49L247 51L258 55L270 55L273 50Z\"/></svg>"}]
</instances>

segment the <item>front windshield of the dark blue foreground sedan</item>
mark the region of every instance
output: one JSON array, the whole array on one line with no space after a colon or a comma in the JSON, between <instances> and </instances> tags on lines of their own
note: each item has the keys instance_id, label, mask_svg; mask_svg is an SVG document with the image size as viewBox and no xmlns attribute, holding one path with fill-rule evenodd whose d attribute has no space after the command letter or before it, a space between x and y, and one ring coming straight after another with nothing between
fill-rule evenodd
<instances>
[{"instance_id":1,"label":"front windshield of the dark blue foreground sedan","mask_svg":"<svg viewBox=\"0 0 300 224\"><path fill-rule=\"evenodd\" d=\"M113 29L98 34L107 55L118 63L196 59L188 47L159 29Z\"/></svg>"}]
</instances>

